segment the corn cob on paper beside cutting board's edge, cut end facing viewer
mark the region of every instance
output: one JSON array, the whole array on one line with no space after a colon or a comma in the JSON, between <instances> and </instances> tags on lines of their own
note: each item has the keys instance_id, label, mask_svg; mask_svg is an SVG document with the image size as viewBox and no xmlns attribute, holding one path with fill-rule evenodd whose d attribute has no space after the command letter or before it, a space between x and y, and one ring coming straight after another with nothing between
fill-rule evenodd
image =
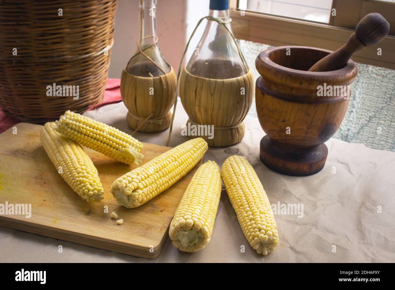
<instances>
[{"instance_id":1,"label":"corn cob on paper beside cutting board's edge, cut end facing viewer","mask_svg":"<svg viewBox=\"0 0 395 290\"><path fill-rule=\"evenodd\" d=\"M180 251L196 252L210 242L221 188L220 168L214 161L196 170L170 223L170 239Z\"/></svg>"}]
</instances>

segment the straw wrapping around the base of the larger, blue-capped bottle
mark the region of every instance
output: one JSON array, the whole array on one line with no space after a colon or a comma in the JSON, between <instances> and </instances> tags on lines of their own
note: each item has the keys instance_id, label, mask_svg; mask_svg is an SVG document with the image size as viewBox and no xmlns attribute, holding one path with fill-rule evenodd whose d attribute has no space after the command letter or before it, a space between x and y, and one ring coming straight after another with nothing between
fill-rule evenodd
<instances>
[{"instance_id":1,"label":"straw wrapping around the base of the larger, blue-capped bottle","mask_svg":"<svg viewBox=\"0 0 395 290\"><path fill-rule=\"evenodd\" d=\"M254 99L254 75L251 69L245 75L233 79L206 79L192 75L184 67L179 92L191 125L214 126L211 139L204 135L188 135L189 138L201 137L214 147L233 145L243 139L243 120Z\"/></svg>"}]
</instances>

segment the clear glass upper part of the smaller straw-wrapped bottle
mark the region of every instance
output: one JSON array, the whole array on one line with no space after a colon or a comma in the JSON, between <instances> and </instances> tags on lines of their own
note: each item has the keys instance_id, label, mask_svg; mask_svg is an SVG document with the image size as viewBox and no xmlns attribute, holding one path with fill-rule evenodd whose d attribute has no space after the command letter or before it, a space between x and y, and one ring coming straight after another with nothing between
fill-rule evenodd
<instances>
[{"instance_id":1,"label":"clear glass upper part of the smaller straw-wrapped bottle","mask_svg":"<svg viewBox=\"0 0 395 290\"><path fill-rule=\"evenodd\" d=\"M171 70L158 46L156 36L156 4L157 0L139 0L139 44L141 51L149 56L166 73ZM138 44L137 44L138 45ZM134 56L126 66L126 72L138 77L157 77L164 75L160 68L136 49Z\"/></svg>"}]
</instances>

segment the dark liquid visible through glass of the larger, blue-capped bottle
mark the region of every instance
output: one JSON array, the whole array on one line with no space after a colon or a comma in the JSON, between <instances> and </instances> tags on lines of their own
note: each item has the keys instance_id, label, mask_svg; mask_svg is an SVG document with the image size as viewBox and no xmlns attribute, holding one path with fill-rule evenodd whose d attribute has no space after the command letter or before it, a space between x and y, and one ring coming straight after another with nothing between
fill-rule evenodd
<instances>
[{"instance_id":1,"label":"dark liquid visible through glass of the larger, blue-capped bottle","mask_svg":"<svg viewBox=\"0 0 395 290\"><path fill-rule=\"evenodd\" d=\"M188 71L198 77L219 80L233 79L247 73L243 65L221 59L198 60L192 64Z\"/></svg>"}]
</instances>

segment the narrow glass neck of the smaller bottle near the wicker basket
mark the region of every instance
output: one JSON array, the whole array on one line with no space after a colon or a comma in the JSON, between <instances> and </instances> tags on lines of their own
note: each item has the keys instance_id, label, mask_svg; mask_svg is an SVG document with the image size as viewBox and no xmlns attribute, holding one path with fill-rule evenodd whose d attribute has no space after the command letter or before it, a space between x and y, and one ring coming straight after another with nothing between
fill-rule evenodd
<instances>
[{"instance_id":1,"label":"narrow glass neck of the smaller bottle near the wicker basket","mask_svg":"<svg viewBox=\"0 0 395 290\"><path fill-rule=\"evenodd\" d=\"M145 47L152 45L152 43L155 42L156 2L157 0L139 0L141 49L144 49Z\"/></svg>"}]
</instances>

